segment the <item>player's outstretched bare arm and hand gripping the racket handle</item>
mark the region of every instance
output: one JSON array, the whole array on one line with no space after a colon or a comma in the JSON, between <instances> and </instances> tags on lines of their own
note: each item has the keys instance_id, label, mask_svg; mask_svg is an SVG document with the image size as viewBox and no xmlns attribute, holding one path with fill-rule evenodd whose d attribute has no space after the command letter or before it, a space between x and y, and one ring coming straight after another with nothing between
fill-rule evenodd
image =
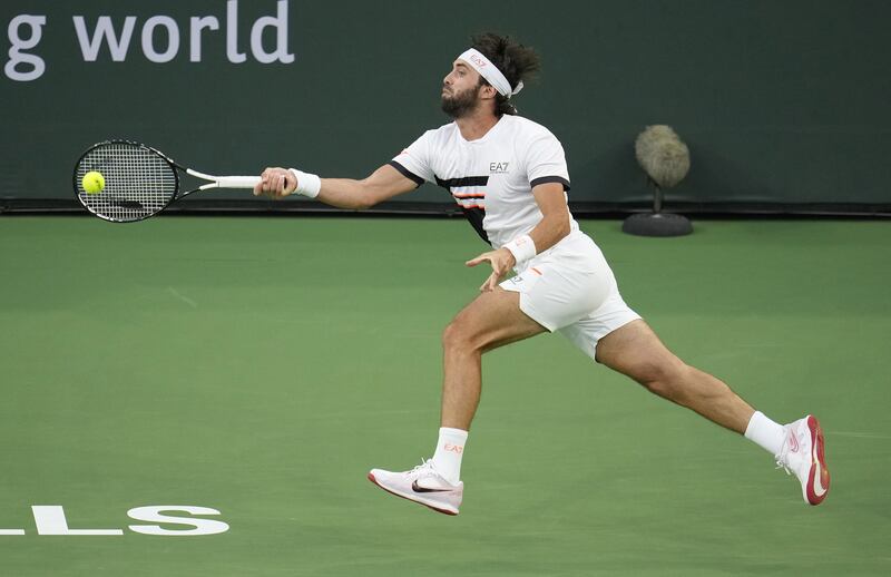
<instances>
[{"instance_id":1,"label":"player's outstretched bare arm and hand gripping the racket handle","mask_svg":"<svg viewBox=\"0 0 891 577\"><path fill-rule=\"evenodd\" d=\"M378 168L362 180L322 178L321 183L316 201L337 208L354 211L370 208L378 203L418 188L418 183L403 176L390 165ZM260 184L254 187L254 196L284 198L294 194L298 184L291 170L277 167L266 168L261 175Z\"/></svg>"}]
</instances>

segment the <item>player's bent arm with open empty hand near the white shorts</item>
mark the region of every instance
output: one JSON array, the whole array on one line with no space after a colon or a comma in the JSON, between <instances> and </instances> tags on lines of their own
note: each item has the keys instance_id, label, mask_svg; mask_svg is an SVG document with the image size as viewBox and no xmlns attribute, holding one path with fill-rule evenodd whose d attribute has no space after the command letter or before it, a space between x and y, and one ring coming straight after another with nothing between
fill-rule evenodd
<instances>
[{"instance_id":1,"label":"player's bent arm with open empty hand near the white shorts","mask_svg":"<svg viewBox=\"0 0 891 577\"><path fill-rule=\"evenodd\" d=\"M541 211L541 221L529 233L532 239L533 247L528 247L538 254L547 251L555 244L559 243L565 236L569 234L569 207L566 204L566 196L564 195L564 185L561 183L542 183L532 188L532 195L536 197L538 209ZM517 239L515 242L520 242ZM517 260L513 253L506 246L498 251L489 251L482 253L476 258L468 261L468 266L477 266L482 262L489 262L492 265L492 274L482 283L480 291L489 292L495 291L501 278L510 271Z\"/></svg>"}]
</instances>

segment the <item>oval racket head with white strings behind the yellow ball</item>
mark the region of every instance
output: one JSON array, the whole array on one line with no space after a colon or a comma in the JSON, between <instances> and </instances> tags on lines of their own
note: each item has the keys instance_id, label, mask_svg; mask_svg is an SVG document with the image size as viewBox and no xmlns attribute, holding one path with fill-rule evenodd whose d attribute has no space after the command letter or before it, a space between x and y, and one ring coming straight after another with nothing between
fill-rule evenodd
<instances>
[{"instance_id":1,"label":"oval racket head with white strings behind the yellow ball","mask_svg":"<svg viewBox=\"0 0 891 577\"><path fill-rule=\"evenodd\" d=\"M84 189L84 176L105 177L97 194ZM104 143L78 162L76 183L80 203L91 213L115 222L140 221L160 212L176 196L177 177L170 164L154 150L131 143Z\"/></svg>"}]
</instances>

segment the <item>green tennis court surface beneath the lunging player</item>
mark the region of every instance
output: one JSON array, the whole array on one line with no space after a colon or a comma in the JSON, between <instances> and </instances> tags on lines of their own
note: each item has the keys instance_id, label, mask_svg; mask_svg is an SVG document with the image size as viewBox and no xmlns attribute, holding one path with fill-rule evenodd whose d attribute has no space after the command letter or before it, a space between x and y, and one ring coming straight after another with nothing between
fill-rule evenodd
<instances>
[{"instance_id":1,"label":"green tennis court surface beneath the lunging player","mask_svg":"<svg viewBox=\"0 0 891 577\"><path fill-rule=\"evenodd\" d=\"M891 574L891 224L695 224L581 226L683 359L820 417L820 507L559 335L484 358L459 517L373 487L435 442L440 331L486 277L461 221L0 218L0 575ZM129 528L186 505L228 530Z\"/></svg>"}]
</instances>

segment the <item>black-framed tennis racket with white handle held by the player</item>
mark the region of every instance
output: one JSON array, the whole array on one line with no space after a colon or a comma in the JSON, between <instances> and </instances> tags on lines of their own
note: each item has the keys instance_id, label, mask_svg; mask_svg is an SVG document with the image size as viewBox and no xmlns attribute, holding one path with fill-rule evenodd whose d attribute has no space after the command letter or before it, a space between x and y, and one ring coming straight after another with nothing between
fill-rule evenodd
<instances>
[{"instance_id":1,"label":"black-framed tennis racket with white handle held by the player","mask_svg":"<svg viewBox=\"0 0 891 577\"><path fill-rule=\"evenodd\" d=\"M84 189L84 176L97 172L105 187L95 194ZM179 173L207 184L182 192ZM212 188L253 188L260 176L212 176L176 164L164 153L129 140L108 140L89 147L75 165L75 196L99 218L135 223L155 216L174 201Z\"/></svg>"}]
</instances>

